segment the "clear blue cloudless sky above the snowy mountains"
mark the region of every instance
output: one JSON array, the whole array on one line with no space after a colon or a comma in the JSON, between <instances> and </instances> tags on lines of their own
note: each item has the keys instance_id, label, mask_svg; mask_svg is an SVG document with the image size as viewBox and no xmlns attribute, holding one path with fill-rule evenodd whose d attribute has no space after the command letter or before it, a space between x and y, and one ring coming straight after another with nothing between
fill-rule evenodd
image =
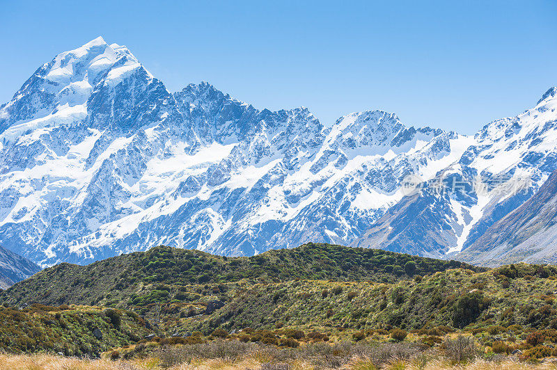
<instances>
[{"instance_id":1,"label":"clear blue cloudless sky above the snowy mountains","mask_svg":"<svg viewBox=\"0 0 557 370\"><path fill-rule=\"evenodd\" d=\"M0 102L102 35L180 90L472 134L557 86L557 1L2 1Z\"/></svg>"}]
</instances>

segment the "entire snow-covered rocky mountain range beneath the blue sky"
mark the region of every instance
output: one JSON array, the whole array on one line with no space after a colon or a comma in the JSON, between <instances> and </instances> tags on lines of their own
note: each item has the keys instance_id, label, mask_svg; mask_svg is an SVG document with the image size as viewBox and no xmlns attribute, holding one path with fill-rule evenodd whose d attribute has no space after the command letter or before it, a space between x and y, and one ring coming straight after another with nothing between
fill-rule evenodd
<instances>
[{"instance_id":1,"label":"entire snow-covered rocky mountain range beneath the blue sky","mask_svg":"<svg viewBox=\"0 0 557 370\"><path fill-rule=\"evenodd\" d=\"M0 244L42 266L160 244L249 256L306 241L464 259L557 169L556 93L474 136L379 110L329 126L205 82L171 93L97 38L0 106Z\"/></svg>"}]
</instances>

